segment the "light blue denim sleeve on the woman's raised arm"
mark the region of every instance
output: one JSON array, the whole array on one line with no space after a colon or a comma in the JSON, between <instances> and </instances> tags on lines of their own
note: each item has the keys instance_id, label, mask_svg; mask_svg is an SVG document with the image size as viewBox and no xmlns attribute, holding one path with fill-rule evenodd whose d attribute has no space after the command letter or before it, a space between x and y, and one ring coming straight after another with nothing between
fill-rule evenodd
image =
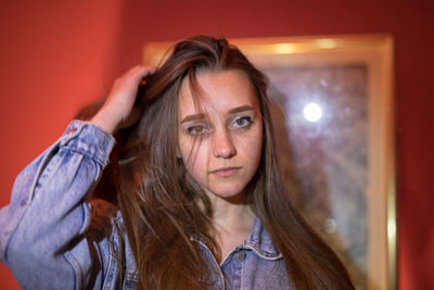
<instances>
[{"instance_id":1,"label":"light blue denim sleeve on the woman's raised arm","mask_svg":"<svg viewBox=\"0 0 434 290\"><path fill-rule=\"evenodd\" d=\"M73 121L17 176L10 204L0 210L0 261L24 289L80 289L90 279L87 196L114 143L92 124Z\"/></svg>"}]
</instances>

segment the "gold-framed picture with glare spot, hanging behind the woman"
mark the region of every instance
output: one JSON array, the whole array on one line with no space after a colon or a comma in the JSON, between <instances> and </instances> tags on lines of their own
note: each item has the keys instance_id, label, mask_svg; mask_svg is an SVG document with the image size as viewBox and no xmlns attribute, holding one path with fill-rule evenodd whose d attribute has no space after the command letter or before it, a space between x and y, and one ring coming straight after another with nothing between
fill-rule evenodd
<instances>
[{"instance_id":1,"label":"gold-framed picture with glare spot, hanging behind the woman","mask_svg":"<svg viewBox=\"0 0 434 290\"><path fill-rule=\"evenodd\" d=\"M282 179L356 289L396 289L393 39L230 39L269 78ZM173 42L150 42L157 64Z\"/></svg>"}]
</instances>

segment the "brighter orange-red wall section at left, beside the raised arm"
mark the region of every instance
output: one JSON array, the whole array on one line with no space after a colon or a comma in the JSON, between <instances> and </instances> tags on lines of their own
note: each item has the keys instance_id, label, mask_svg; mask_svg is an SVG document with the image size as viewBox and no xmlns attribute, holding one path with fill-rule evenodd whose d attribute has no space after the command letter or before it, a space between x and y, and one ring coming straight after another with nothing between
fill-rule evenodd
<instances>
[{"instance_id":1,"label":"brighter orange-red wall section at left, beside the raised arm","mask_svg":"<svg viewBox=\"0 0 434 290\"><path fill-rule=\"evenodd\" d=\"M110 88L117 58L120 1L40 2L0 3L0 206L21 168ZM20 289L1 264L0 289Z\"/></svg>"}]
</instances>

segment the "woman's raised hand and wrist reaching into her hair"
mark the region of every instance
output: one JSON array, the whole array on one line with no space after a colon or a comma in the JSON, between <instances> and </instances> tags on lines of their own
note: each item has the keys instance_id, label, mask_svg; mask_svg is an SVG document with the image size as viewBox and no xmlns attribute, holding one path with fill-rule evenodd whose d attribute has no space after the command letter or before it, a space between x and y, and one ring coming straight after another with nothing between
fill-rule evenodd
<instances>
[{"instance_id":1,"label":"woman's raised hand and wrist reaching into her hair","mask_svg":"<svg viewBox=\"0 0 434 290\"><path fill-rule=\"evenodd\" d=\"M104 105L90 122L112 135L135 124L142 111L135 105L139 85L154 71L154 67L138 65L117 78Z\"/></svg>"}]
</instances>

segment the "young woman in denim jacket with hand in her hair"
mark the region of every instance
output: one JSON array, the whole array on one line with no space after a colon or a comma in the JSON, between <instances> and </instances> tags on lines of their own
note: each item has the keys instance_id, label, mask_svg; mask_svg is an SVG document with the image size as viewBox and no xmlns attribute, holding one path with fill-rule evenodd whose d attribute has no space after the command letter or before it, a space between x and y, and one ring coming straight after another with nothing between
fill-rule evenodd
<instances>
[{"instance_id":1,"label":"young woman in denim jacket with hand in her hair","mask_svg":"<svg viewBox=\"0 0 434 290\"><path fill-rule=\"evenodd\" d=\"M354 289L279 180L266 87L209 37L180 41L155 72L132 68L18 176L2 262L31 289ZM119 211L95 225L89 194L123 128Z\"/></svg>"}]
</instances>

